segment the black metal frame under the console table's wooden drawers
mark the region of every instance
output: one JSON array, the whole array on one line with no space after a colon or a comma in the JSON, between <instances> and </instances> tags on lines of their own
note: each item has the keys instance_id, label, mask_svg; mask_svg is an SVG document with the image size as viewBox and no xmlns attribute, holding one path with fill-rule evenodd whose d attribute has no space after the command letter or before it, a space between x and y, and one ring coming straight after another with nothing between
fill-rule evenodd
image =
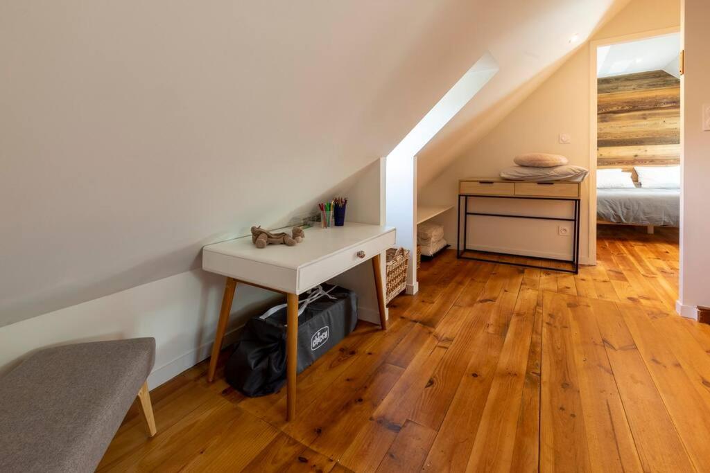
<instances>
[{"instance_id":1,"label":"black metal frame under the console table's wooden drawers","mask_svg":"<svg viewBox=\"0 0 710 473\"><path fill-rule=\"evenodd\" d=\"M461 250L461 197L464 198L464 249ZM509 215L507 213L481 213L481 212L469 212L469 198L476 197L482 199L526 199L526 200L542 200L542 201L564 201L574 203L574 218L561 218L561 217L540 217L540 216L525 216L525 215ZM579 274L579 210L580 210L581 200L577 198L569 197L542 197L542 196L486 196L486 195L471 195L471 194L459 194L459 214L457 216L457 234L456 234L456 256L457 258L463 258L464 260L475 260L491 263L501 263L501 265L513 265L513 266L523 266L531 267L537 269L548 269L550 271L560 271L569 272L572 274ZM469 216L488 216L488 217L505 217L505 218L532 218L535 220L552 220L552 221L565 221L574 223L574 235L572 237L572 260L557 260L556 258L544 258L530 255L513 255L512 253L503 253L496 251L480 251L480 250L469 250L466 248L466 231L468 230ZM537 265L527 265L525 263L516 263L508 261L497 261L497 260L486 260L485 258L467 256L464 253L466 251L476 251L479 253L486 253L488 255L501 255L501 256L513 256L513 257L530 257L536 260L544 261L557 261L572 264L573 269L555 268L547 266L537 266Z\"/></svg>"}]
</instances>

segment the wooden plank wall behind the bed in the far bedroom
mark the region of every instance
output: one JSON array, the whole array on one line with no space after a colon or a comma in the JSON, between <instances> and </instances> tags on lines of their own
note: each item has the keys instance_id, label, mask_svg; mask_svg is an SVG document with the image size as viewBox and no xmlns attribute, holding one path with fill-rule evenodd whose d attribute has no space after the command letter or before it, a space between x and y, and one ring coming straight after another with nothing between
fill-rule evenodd
<instances>
[{"instance_id":1,"label":"wooden plank wall behind the bed in the far bedroom","mask_svg":"<svg viewBox=\"0 0 710 473\"><path fill-rule=\"evenodd\" d=\"M602 77L597 86L597 167L680 163L679 79L639 72Z\"/></svg>"}]
</instances>

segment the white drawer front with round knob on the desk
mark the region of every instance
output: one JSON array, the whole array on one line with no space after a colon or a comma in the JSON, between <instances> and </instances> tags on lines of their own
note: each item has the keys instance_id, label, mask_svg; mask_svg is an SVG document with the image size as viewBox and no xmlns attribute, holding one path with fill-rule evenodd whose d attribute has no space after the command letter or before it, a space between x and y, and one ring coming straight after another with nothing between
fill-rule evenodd
<instances>
[{"instance_id":1,"label":"white drawer front with round knob on the desk","mask_svg":"<svg viewBox=\"0 0 710 473\"><path fill-rule=\"evenodd\" d=\"M361 262L370 260L374 255L381 253L395 244L395 232L391 231L376 238L367 240L361 245L329 255L323 260L313 262L310 265L298 270L298 292L307 291L313 286L327 281L338 274L359 265ZM364 257L359 257L359 251L365 253Z\"/></svg>"}]
</instances>

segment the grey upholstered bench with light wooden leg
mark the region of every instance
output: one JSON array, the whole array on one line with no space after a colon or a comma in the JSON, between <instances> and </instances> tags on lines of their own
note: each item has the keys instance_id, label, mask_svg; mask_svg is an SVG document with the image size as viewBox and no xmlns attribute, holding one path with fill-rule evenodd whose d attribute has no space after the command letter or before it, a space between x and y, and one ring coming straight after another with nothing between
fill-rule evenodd
<instances>
[{"instance_id":1,"label":"grey upholstered bench with light wooden leg","mask_svg":"<svg viewBox=\"0 0 710 473\"><path fill-rule=\"evenodd\" d=\"M155 435L146 379L155 339L48 348L0 378L0 472L93 472L136 399Z\"/></svg>"}]
</instances>

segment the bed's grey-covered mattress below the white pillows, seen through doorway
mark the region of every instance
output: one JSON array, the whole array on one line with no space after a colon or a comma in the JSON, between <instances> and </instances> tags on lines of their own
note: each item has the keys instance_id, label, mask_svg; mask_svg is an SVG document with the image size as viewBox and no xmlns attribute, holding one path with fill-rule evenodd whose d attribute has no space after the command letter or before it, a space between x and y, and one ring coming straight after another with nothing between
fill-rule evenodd
<instances>
[{"instance_id":1,"label":"bed's grey-covered mattress below the white pillows, seen through doorway","mask_svg":"<svg viewBox=\"0 0 710 473\"><path fill-rule=\"evenodd\" d=\"M599 223L677 227L680 223L680 189L597 189Z\"/></svg>"}]
</instances>

